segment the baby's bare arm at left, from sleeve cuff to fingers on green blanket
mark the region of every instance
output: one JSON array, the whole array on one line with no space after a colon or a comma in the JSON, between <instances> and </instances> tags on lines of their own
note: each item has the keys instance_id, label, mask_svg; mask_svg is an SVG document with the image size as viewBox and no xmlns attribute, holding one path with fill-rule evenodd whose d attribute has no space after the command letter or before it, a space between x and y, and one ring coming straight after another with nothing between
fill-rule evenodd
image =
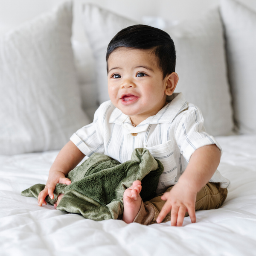
<instances>
[{"instance_id":1,"label":"baby's bare arm at left, from sleeve cuff to fingers on green blanket","mask_svg":"<svg viewBox=\"0 0 256 256\"><path fill-rule=\"evenodd\" d=\"M49 177L44 190L38 195L38 205L46 204L47 195L54 198L53 191L57 183L69 185L71 180L66 175L73 170L84 158L84 154L70 140L58 153L54 163L49 170Z\"/></svg>"}]
</instances>

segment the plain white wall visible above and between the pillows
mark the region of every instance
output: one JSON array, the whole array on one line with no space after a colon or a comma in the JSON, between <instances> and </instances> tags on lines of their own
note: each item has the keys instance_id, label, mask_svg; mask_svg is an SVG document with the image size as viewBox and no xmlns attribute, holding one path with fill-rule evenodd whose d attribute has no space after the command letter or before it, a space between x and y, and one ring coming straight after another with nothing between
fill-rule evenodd
<instances>
[{"instance_id":1,"label":"plain white wall visible above and between the pillows","mask_svg":"<svg viewBox=\"0 0 256 256\"><path fill-rule=\"evenodd\" d=\"M0 0L0 35L20 23L47 12L64 0ZM160 16L168 20L194 19L219 0L74 0L73 38L86 41L81 25L82 3L95 3L125 17L141 20ZM239 0L256 11L256 0Z\"/></svg>"}]
</instances>

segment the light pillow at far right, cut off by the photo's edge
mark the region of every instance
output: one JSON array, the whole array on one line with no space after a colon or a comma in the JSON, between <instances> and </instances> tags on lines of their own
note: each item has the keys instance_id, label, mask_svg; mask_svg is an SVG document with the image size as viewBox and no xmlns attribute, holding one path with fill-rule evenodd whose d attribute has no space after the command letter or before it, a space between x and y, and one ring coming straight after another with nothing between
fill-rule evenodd
<instances>
[{"instance_id":1,"label":"light pillow at far right, cut off by the photo's edge","mask_svg":"<svg viewBox=\"0 0 256 256\"><path fill-rule=\"evenodd\" d=\"M236 128L256 133L256 12L233 0L221 1L227 64Z\"/></svg>"}]
</instances>

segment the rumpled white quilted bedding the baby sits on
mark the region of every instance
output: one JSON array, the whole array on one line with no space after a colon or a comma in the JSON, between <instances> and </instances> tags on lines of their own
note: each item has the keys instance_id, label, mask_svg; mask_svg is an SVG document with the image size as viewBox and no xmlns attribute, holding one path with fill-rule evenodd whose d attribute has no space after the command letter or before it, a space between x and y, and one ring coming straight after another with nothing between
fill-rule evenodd
<instances>
[{"instance_id":1,"label":"rumpled white quilted bedding the baby sits on","mask_svg":"<svg viewBox=\"0 0 256 256\"><path fill-rule=\"evenodd\" d=\"M46 183L58 151L0 156L0 255L256 255L256 135L216 139L224 151L218 169L232 186L220 209L198 211L183 227L96 222L38 207L20 192Z\"/></svg>"}]
</instances>

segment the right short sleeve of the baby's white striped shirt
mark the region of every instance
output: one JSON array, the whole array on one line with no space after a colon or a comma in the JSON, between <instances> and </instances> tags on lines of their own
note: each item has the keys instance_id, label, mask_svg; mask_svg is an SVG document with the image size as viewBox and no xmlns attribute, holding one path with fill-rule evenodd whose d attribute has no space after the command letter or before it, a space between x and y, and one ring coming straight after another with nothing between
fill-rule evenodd
<instances>
[{"instance_id":1,"label":"right short sleeve of the baby's white striped shirt","mask_svg":"<svg viewBox=\"0 0 256 256\"><path fill-rule=\"evenodd\" d=\"M184 158L189 162L196 149L215 144L221 151L221 146L214 137L207 134L204 128L204 118L201 110L193 105L188 113L180 119L175 133L175 139Z\"/></svg>"}]
</instances>

